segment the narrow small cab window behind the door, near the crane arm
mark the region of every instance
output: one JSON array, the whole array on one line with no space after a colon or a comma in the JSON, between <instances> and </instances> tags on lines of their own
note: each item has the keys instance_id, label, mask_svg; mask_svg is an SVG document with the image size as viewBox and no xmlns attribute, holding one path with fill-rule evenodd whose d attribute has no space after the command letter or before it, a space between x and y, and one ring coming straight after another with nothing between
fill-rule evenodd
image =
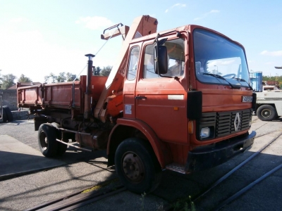
<instances>
[{"instance_id":1,"label":"narrow small cab window behind the door, near the crane arm","mask_svg":"<svg viewBox=\"0 0 282 211\"><path fill-rule=\"evenodd\" d=\"M128 65L128 75L127 75L128 80L133 80L136 77L139 57L140 57L140 48L138 46L133 47L130 51L130 61Z\"/></svg>"}]
</instances>

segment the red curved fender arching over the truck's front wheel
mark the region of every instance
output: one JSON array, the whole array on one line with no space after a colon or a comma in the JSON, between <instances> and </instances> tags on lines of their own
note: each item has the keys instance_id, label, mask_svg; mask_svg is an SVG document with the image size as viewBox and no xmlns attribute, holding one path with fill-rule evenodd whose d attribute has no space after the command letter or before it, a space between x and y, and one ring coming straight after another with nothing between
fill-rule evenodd
<instances>
[{"instance_id":1,"label":"red curved fender arching over the truck's front wheel","mask_svg":"<svg viewBox=\"0 0 282 211\"><path fill-rule=\"evenodd\" d=\"M168 149L166 148L164 143L161 143L161 141L159 140L159 137L154 132L154 130L151 127L149 127L148 124L146 124L145 122L142 122L141 120L125 119L125 118L120 118L117 120L117 124L111 130L111 134L109 135L109 141L108 141L108 146L106 150L107 155L109 155L110 153L112 135L114 134L114 131L121 125L128 126L128 127L134 127L140 130L140 132L142 132L146 136L146 138L149 140L149 143L151 144L154 150L154 153L157 159L159 160L159 164L161 165L161 168L164 168L166 166L167 164L166 162L168 161L166 161L167 158L166 160L164 159L164 151L167 151ZM168 153L168 155L169 154L170 153ZM169 156L167 157L169 159Z\"/></svg>"}]
</instances>

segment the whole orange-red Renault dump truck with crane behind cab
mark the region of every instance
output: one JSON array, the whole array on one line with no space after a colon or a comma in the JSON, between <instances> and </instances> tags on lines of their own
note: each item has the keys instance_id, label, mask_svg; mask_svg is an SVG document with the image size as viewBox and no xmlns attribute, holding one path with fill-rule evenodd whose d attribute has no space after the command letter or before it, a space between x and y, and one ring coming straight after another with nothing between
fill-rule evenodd
<instances>
[{"instance_id":1,"label":"whole orange-red Renault dump truck with crane behind cab","mask_svg":"<svg viewBox=\"0 0 282 211\"><path fill-rule=\"evenodd\" d=\"M79 81L18 87L43 155L63 155L69 142L106 149L122 183L144 193L162 170L206 170L252 146L256 96L243 46L198 25L157 33L157 24L143 15L104 31L102 39L123 37L109 77L92 76L87 54Z\"/></svg>"}]
</instances>

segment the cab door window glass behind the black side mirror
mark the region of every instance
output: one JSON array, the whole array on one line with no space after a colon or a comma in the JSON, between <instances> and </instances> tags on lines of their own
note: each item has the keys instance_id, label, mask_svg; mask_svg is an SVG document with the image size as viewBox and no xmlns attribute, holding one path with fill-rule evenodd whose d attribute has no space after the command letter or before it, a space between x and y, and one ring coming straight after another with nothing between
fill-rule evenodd
<instances>
[{"instance_id":1,"label":"cab door window glass behind the black side mirror","mask_svg":"<svg viewBox=\"0 0 282 211\"><path fill-rule=\"evenodd\" d=\"M173 39L164 44L168 52L168 72L166 76L181 76L184 73L184 40ZM143 78L157 78L154 73L154 45L149 44L145 48Z\"/></svg>"}]
</instances>

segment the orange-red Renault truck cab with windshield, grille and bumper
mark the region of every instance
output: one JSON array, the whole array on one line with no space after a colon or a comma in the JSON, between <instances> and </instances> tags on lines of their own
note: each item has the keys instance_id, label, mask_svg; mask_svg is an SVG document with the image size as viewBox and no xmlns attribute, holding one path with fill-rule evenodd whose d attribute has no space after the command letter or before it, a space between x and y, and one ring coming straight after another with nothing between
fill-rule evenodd
<instances>
[{"instance_id":1,"label":"orange-red Renault truck cab with windshield, grille and bumper","mask_svg":"<svg viewBox=\"0 0 282 211\"><path fill-rule=\"evenodd\" d=\"M255 94L243 46L197 25L159 34L166 39L163 58L156 57L157 34L130 43L123 117L114 130L138 125L135 133L149 140L161 169L184 174L250 148ZM157 60L166 70L158 70ZM111 163L111 138L108 146Z\"/></svg>"}]
</instances>

